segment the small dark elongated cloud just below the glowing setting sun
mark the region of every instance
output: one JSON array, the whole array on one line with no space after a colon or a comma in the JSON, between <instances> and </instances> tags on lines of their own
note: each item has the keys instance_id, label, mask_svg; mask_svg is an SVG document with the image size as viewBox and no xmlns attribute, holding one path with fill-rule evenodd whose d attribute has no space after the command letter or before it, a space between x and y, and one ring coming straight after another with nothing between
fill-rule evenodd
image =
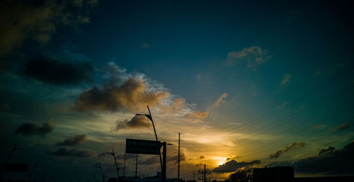
<instances>
[{"instance_id":1,"label":"small dark elongated cloud just below the glowing setting sun","mask_svg":"<svg viewBox=\"0 0 354 182\"><path fill-rule=\"evenodd\" d=\"M215 173L218 173L218 174L231 173L231 172L236 171L237 169L240 169L240 168L243 168L246 166L253 166L253 164L261 164L261 161L254 160L254 161L250 161L250 162L246 162L246 161L238 162L235 160L231 160L231 161L225 162L225 164L217 166L212 171Z\"/></svg>"}]
</instances>

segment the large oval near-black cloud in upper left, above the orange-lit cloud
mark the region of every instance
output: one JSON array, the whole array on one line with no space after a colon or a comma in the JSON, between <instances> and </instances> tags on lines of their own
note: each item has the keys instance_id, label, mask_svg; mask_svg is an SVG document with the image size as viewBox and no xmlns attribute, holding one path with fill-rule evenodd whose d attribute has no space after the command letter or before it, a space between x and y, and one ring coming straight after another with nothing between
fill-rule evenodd
<instances>
[{"instance_id":1,"label":"large oval near-black cloud in upper left, above the orange-lit cloud","mask_svg":"<svg viewBox=\"0 0 354 182\"><path fill-rule=\"evenodd\" d=\"M71 85L89 81L93 67L89 62L66 62L39 55L25 64L23 73L49 84Z\"/></svg>"}]
</instances>

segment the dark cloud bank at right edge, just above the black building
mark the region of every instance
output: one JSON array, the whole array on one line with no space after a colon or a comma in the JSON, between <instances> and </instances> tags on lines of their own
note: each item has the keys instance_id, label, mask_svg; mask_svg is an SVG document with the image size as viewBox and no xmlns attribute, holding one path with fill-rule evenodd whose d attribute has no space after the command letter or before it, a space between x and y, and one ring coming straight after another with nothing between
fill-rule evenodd
<instances>
[{"instance_id":1,"label":"dark cloud bank at right edge, just above the black building","mask_svg":"<svg viewBox=\"0 0 354 182\"><path fill-rule=\"evenodd\" d=\"M314 157L308 157L299 161L274 162L268 166L294 166L295 172L301 174L321 175L353 175L354 166L354 141L343 149L328 147L319 150Z\"/></svg>"}]
</instances>

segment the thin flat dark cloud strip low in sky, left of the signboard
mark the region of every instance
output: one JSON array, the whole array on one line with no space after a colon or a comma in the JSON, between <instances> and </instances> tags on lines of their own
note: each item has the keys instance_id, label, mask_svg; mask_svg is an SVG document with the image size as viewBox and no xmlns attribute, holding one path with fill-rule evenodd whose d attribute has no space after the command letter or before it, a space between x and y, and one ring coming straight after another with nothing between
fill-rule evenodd
<instances>
[{"instance_id":1,"label":"thin flat dark cloud strip low in sky, left of the signboard","mask_svg":"<svg viewBox=\"0 0 354 182\"><path fill-rule=\"evenodd\" d=\"M62 147L57 150L47 150L45 154L54 155L57 157L93 157L96 156L96 152L91 149L68 149L67 147Z\"/></svg>"}]
</instances>

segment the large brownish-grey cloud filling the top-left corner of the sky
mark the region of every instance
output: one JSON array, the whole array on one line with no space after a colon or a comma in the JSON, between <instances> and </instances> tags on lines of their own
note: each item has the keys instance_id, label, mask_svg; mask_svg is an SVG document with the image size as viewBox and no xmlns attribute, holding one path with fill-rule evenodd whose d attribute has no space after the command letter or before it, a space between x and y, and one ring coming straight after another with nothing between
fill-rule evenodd
<instances>
[{"instance_id":1,"label":"large brownish-grey cloud filling the top-left corner of the sky","mask_svg":"<svg viewBox=\"0 0 354 182\"><path fill-rule=\"evenodd\" d=\"M28 39L48 42L59 25L78 28L89 23L90 11L96 4L97 0L1 2L0 57L21 47Z\"/></svg>"}]
</instances>

